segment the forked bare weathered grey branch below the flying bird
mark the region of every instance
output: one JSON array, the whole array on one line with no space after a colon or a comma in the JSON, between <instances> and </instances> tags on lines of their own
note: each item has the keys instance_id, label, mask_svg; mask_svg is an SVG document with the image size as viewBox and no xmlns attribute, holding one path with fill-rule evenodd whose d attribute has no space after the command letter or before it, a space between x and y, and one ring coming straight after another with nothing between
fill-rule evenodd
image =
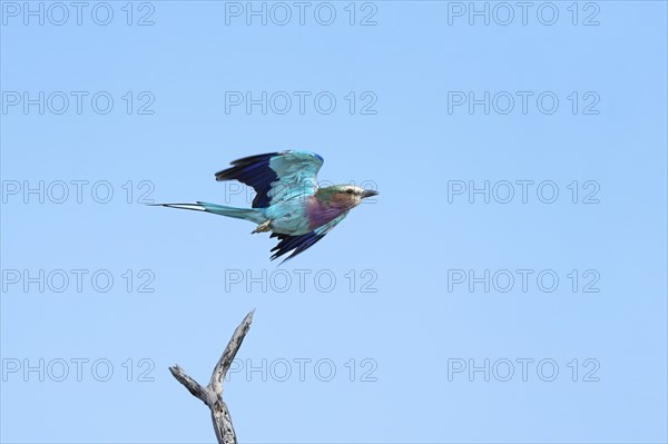
<instances>
[{"instance_id":1,"label":"forked bare weathered grey branch below the flying bird","mask_svg":"<svg viewBox=\"0 0 668 444\"><path fill-rule=\"evenodd\" d=\"M193 396L202 399L202 402L204 402L212 411L212 421L219 444L237 443L227 404L223 401L223 379L225 378L237 351L242 346L246 333L248 333L248 329L250 328L254 313L255 310L248 313L239 326L234 330L229 343L227 343L227 347L225 347L220 359L218 359L218 363L214 368L209 384L206 387L199 385L197 381L188 376L178 365L169 367L169 372L171 372L171 375L174 375L176 381L181 383Z\"/></svg>"}]
</instances>

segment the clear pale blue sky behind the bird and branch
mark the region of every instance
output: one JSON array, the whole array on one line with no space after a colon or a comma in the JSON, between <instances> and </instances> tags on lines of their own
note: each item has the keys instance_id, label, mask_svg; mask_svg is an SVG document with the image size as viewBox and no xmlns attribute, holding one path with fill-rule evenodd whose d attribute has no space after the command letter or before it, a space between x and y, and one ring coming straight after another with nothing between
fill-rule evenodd
<instances>
[{"instance_id":1,"label":"clear pale blue sky behind the bird and branch","mask_svg":"<svg viewBox=\"0 0 668 444\"><path fill-rule=\"evenodd\" d=\"M88 3L81 26L73 8L65 24L47 17L40 26L35 17L24 24L22 10L14 17L23 2L1 4L2 442L213 442L208 412L167 368L178 363L208 381L253 308L235 369L267 359L266 382L244 368L225 392L242 442L668 440L665 2L579 2L577 24L571 2L554 2L552 26L537 18L543 3L527 24L514 7L508 26L494 17L469 24L469 2L357 2L355 26L348 2L331 3L331 26L314 19L315 2L304 26L292 2L286 26L247 26L245 16L226 24L236 4L216 1L134 2L131 26L127 3L109 2L114 18L99 26L90 17L97 6L105 18L98 4ZM455 17L461 6L466 12ZM550 19L551 7L542 8ZM137 26L148 12L154 24ZM376 24L360 26L372 12ZM598 26L583 26L591 14ZM81 114L72 99L62 115L49 103L40 115L9 105L23 91L88 99ZM98 91L115 100L106 115L90 106ZM337 101L328 115L313 101L303 115L296 101L285 115L259 106L226 112L226 91L330 91ZM350 91L360 100L353 115ZM365 91L377 98L375 115L360 114ZM527 114L519 101L508 115L493 106L485 115L482 105L449 112L449 91L533 99ZM559 99L553 114L536 106L544 91ZM154 114L138 115L149 97ZM584 114L592 98L599 112ZM321 154L323 180L367 181L381 195L283 266L268 260L274 243L249 236L247 223L140 199L150 191L145 198L159 203L246 206L214 172L286 148ZM40 180L43 204L23 194ZM80 203L71 180L88 181ZM466 194L449 201L449 187L485 180L550 180L559 196L543 204L533 185L524 204L515 184L509 204L481 195L471 204ZM69 195L58 204L60 181ZM110 187L107 204L91 196L100 181L95 198ZM583 204L595 188L598 204ZM87 273L80 292L72 269ZM497 290L503 280L471 292L468 280L453 284L460 269L508 269L518 279L507 293ZM527 292L517 269L533 273ZM23 270L38 280L43 270L43 293L39 283L23 286ZM98 289L96 270L106 270ZM538 287L541 270L559 277L553 292ZM107 275L114 283L102 293ZM589 288L599 292L584 293L595 277ZM154 292L140 293L141 283ZM81 381L77 358L88 359ZM527 381L522 358L533 359ZM40 359L42 371L24 373ZM91 372L98 359L114 368L106 382L105 366ZM311 359L304 381L295 359ZM449 365L484 359L489 382L468 368L449 377ZM504 359L514 363L508 382ZM558 366L551 382L542 381L551 367L537 373L543 359ZM334 365L331 381L321 381L328 366L314 371L318 361ZM69 373L60 377L62 362ZM282 382L285 362L292 374Z\"/></svg>"}]
</instances>

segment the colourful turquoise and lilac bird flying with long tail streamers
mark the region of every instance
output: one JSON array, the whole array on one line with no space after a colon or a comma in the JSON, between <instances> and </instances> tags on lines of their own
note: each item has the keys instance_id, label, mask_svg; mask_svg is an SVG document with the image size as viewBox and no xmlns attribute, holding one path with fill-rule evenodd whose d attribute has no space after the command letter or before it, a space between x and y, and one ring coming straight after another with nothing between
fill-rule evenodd
<instances>
[{"instance_id":1,"label":"colourful turquoise and lilac bird flying with long tail streamers","mask_svg":"<svg viewBox=\"0 0 668 444\"><path fill-rule=\"evenodd\" d=\"M238 180L255 189L252 208L197 204L157 204L234 217L257 224L252 233L272 231L278 244L272 260L292 251L292 259L342 221L362 199L377 191L354 185L318 187L324 159L315 152L287 150L245 157L216 172L216 180Z\"/></svg>"}]
</instances>

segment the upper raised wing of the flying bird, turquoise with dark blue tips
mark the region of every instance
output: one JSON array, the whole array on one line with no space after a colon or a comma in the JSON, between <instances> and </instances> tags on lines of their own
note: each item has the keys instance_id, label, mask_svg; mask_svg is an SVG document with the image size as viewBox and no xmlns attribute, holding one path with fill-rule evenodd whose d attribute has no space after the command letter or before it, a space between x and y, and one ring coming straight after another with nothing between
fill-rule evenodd
<instances>
[{"instance_id":1,"label":"upper raised wing of the flying bird, turquoise with dark blue tips","mask_svg":"<svg viewBox=\"0 0 668 444\"><path fill-rule=\"evenodd\" d=\"M253 208L294 196L311 196L317 189L317 171L324 159L315 152L281 151L250 156L216 172L216 180L238 180L255 189Z\"/></svg>"}]
</instances>

